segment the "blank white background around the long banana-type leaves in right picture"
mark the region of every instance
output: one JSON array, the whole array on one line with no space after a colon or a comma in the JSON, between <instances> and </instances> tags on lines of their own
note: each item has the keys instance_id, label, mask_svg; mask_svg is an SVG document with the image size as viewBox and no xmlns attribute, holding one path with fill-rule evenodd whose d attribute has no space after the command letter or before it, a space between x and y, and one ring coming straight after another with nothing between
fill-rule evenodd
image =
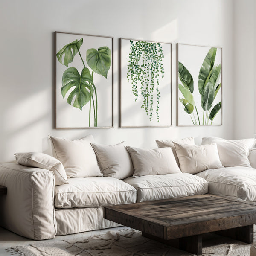
<instances>
[{"instance_id":1,"label":"blank white background around the long banana-type leaves in right picture","mask_svg":"<svg viewBox=\"0 0 256 256\"><path fill-rule=\"evenodd\" d=\"M203 120L203 108L201 107L201 95L198 91L198 75L199 75L199 70L203 64L204 58L207 55L207 52L211 49L211 47L204 47L204 46L195 46L195 45L187 45L187 44L178 44L178 61L181 62L187 70L189 70L189 73L192 75L193 80L194 80L194 100L195 100L195 105L198 109L198 115L200 122L202 123ZM216 52L216 57L215 57L215 65L216 64L221 64L221 48L217 48ZM221 67L221 72L222 72L222 67ZM221 77L219 78L218 84L221 82ZM180 78L178 78L178 83L181 84ZM222 87L222 84L221 84ZM183 104L179 101L179 98L184 99L184 96L180 92L180 90L177 87L178 91L178 99L177 99L177 104L178 104L178 126L187 126L187 125L193 125L192 120L189 116L188 113L184 111L184 106ZM221 101L221 92L222 88L218 91L218 94L216 98L214 99L214 102L212 104L212 108ZM223 104L223 102L222 102ZM211 109L212 109L211 108ZM195 115L196 120L198 121L197 118L197 113L194 108L193 113L191 116ZM222 120L222 107L220 111L217 113L215 118L213 119L212 125L221 125L221 120ZM209 120L209 125L211 121Z\"/></svg>"}]
</instances>

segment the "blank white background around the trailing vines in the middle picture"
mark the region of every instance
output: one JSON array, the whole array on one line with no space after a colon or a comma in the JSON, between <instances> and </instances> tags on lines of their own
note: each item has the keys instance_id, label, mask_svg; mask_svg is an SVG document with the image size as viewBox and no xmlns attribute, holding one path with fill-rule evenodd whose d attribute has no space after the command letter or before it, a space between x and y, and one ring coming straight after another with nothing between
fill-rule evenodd
<instances>
[{"instance_id":1,"label":"blank white background around the trailing vines in the middle picture","mask_svg":"<svg viewBox=\"0 0 256 256\"><path fill-rule=\"evenodd\" d=\"M138 40L133 40L134 43ZM145 40L143 40L145 41ZM150 41L148 41L150 42ZM163 67L164 67L164 78L162 79L161 74L159 76L159 118L160 122L157 122L156 114L156 99L157 93L154 92L154 104L153 104L153 116L152 121L149 119L145 113L144 108L140 108L143 105L143 97L140 94L140 84L139 96L137 102L135 102L135 96L132 93L131 81L128 82L128 63L129 63L129 53L130 53L130 39L121 38L121 127L139 127L139 126L170 126L171 121L171 48L172 44L161 43L163 47Z\"/></svg>"}]
</instances>

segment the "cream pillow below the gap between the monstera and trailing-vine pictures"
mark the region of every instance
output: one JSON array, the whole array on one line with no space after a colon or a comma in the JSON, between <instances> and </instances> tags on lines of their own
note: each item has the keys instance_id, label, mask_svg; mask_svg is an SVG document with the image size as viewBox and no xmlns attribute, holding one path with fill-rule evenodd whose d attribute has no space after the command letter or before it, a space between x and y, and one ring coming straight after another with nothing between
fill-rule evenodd
<instances>
[{"instance_id":1,"label":"cream pillow below the gap between the monstera and trailing-vine pictures","mask_svg":"<svg viewBox=\"0 0 256 256\"><path fill-rule=\"evenodd\" d=\"M105 177L122 180L133 175L134 168L124 142L116 145L91 145Z\"/></svg>"}]
</instances>

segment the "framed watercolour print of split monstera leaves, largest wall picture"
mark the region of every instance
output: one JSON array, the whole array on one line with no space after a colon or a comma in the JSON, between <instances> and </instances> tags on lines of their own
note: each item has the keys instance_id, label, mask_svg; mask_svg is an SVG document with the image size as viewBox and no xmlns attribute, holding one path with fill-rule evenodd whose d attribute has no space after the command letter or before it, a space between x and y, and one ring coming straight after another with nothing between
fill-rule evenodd
<instances>
[{"instance_id":1,"label":"framed watercolour print of split monstera leaves, largest wall picture","mask_svg":"<svg viewBox=\"0 0 256 256\"><path fill-rule=\"evenodd\" d=\"M55 32L56 129L113 127L113 37Z\"/></svg>"}]
</instances>

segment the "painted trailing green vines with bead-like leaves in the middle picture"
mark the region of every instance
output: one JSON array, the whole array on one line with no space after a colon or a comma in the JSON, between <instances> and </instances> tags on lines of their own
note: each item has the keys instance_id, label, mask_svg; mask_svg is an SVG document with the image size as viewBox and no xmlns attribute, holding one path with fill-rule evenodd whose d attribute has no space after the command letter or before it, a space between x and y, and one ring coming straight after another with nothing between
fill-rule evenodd
<instances>
[{"instance_id":1,"label":"painted trailing green vines with bead-like leaves in the middle picture","mask_svg":"<svg viewBox=\"0 0 256 256\"><path fill-rule=\"evenodd\" d=\"M135 102L142 96L141 108L145 110L152 121L154 111L154 92L156 91L157 122L160 122L159 105L160 90L159 79L164 77L163 49L160 43L130 40L130 53L128 62L128 82L131 81L132 93Z\"/></svg>"}]
</instances>

